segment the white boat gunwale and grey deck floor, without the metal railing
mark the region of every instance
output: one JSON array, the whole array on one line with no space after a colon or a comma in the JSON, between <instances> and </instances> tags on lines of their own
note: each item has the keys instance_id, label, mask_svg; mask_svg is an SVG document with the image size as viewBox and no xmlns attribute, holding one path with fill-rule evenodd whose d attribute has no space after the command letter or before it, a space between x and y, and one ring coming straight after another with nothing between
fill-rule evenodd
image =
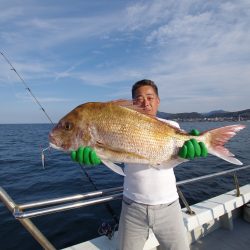
<instances>
[{"instance_id":1,"label":"white boat gunwale and grey deck floor, without the metal railing","mask_svg":"<svg viewBox=\"0 0 250 250\"><path fill-rule=\"evenodd\" d=\"M195 215L185 213L186 208L183 208L189 242L193 242L191 250L250 249L250 222L243 219L246 215L244 204L250 201L250 185L241 187L240 193L240 196L236 196L236 190L232 190L194 204L191 209ZM250 221L249 216L247 220ZM63 250L113 250L116 249L116 244L117 232L112 240L101 236ZM150 232L143 249L159 249L153 232Z\"/></svg>"}]
</instances>

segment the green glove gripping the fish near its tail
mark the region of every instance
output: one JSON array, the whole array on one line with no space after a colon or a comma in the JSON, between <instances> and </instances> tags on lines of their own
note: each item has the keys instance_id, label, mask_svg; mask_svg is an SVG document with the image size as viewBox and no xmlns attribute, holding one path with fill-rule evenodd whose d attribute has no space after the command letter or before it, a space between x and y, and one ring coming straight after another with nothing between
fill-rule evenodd
<instances>
[{"instance_id":1,"label":"green glove gripping the fish near its tail","mask_svg":"<svg viewBox=\"0 0 250 250\"><path fill-rule=\"evenodd\" d=\"M190 131L189 134L199 136L200 132L197 129L193 129ZM195 157L206 157L207 147L203 142L197 142L197 140L193 138L188 141L185 141L178 155L181 158L190 160L194 159Z\"/></svg>"}]
</instances>

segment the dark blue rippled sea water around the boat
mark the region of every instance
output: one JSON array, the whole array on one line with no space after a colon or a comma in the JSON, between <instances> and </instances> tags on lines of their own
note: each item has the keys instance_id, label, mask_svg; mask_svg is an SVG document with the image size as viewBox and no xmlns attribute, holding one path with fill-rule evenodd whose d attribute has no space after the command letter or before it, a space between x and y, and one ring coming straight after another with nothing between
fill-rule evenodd
<instances>
[{"instance_id":1,"label":"dark blue rippled sea water around the boat","mask_svg":"<svg viewBox=\"0 0 250 250\"><path fill-rule=\"evenodd\" d=\"M227 148L244 165L250 164L250 123L236 135ZM181 123L187 131L200 131L232 123ZM78 164L69 155L52 150L46 153L46 168L41 164L41 148L48 145L49 124L0 125L0 186L16 203L68 196L93 191L94 188ZM175 168L177 180L216 173L235 166L214 156L196 159ZM98 189L119 187L123 177L105 166L88 168L87 172ZM238 172L240 185L250 182L250 170ZM167 180L166 180L167 181ZM234 189L232 175L199 181L181 187L186 199L194 204ZM111 203L119 215L121 201ZM103 220L111 219L104 205L80 208L32 219L56 248L64 248L98 236ZM30 234L0 203L0 249L42 249Z\"/></svg>"}]
</instances>

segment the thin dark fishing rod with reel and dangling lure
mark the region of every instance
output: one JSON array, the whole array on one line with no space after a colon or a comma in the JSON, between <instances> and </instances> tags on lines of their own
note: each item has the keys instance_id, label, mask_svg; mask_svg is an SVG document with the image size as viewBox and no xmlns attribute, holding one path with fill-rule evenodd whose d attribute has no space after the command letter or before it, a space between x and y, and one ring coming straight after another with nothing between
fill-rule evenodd
<instances>
[{"instance_id":1,"label":"thin dark fishing rod with reel and dangling lure","mask_svg":"<svg viewBox=\"0 0 250 250\"><path fill-rule=\"evenodd\" d=\"M50 116L48 115L48 113L45 111L45 109L43 108L43 106L40 104L40 102L38 101L38 99L36 98L36 96L33 94L33 92L31 91L31 89L29 88L29 86L27 85L27 83L24 81L24 79L21 77L21 75L17 72L17 70L14 68L14 66L12 65L12 63L10 62L10 60L4 55L3 52L1 52L1 55L3 56L3 58L5 59L5 61L10 65L11 70L13 70L16 75L19 77L19 79L21 80L21 82L24 84L25 89L29 92L29 94L31 95L31 97L33 98L33 100L35 101L35 103L40 107L40 109L44 112L45 116L47 117L47 119L50 121L50 123L52 125L54 125L54 123L52 122ZM48 150L50 148L47 147L45 149L42 150L42 165L43 168L45 166L45 156L44 156L44 152L46 150ZM86 171L86 169L80 164L81 169L83 170L85 176L88 178L89 182L92 184L92 186L94 187L95 190L98 190L97 186L95 185L95 183L93 182L93 180L91 179L90 175L88 174L88 172ZM117 217L117 215L115 214L113 208L111 207L111 205L109 203L105 204L106 209L108 210L108 212L111 214L112 219L115 222L115 225L112 226L109 223L103 222L101 224L101 226L98 229L98 233L100 235L106 235L109 239L111 239L113 237L114 231L117 229L118 227L118 223L119 223L119 219Z\"/></svg>"}]
</instances>

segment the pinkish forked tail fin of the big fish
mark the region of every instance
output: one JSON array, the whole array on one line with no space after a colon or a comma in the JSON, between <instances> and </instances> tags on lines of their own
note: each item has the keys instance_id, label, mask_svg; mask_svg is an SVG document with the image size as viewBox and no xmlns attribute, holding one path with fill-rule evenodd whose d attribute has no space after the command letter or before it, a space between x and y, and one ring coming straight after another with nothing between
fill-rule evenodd
<instances>
[{"instance_id":1,"label":"pinkish forked tail fin of the big fish","mask_svg":"<svg viewBox=\"0 0 250 250\"><path fill-rule=\"evenodd\" d=\"M238 124L207 131L207 133L209 133L210 140L208 152L230 163L242 165L243 163L234 158L234 154L225 148L224 144L226 144L232 137L236 135L237 132L245 127L245 125Z\"/></svg>"}]
</instances>

